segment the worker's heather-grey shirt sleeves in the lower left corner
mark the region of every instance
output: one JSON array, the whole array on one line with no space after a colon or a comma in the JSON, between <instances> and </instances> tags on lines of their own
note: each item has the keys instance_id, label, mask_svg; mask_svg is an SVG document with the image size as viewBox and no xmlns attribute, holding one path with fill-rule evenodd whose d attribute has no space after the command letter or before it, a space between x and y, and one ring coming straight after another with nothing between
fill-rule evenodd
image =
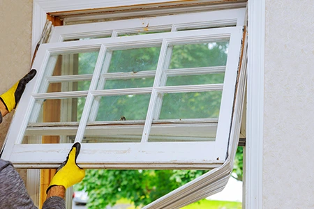
<instances>
[{"instance_id":1,"label":"worker's heather-grey shirt sleeves in the lower left corner","mask_svg":"<svg viewBox=\"0 0 314 209\"><path fill-rule=\"evenodd\" d=\"M37 209L19 173L10 162L1 159L0 208ZM66 209L66 202L59 196L52 196L43 204L43 209L50 208Z\"/></svg>"}]
</instances>

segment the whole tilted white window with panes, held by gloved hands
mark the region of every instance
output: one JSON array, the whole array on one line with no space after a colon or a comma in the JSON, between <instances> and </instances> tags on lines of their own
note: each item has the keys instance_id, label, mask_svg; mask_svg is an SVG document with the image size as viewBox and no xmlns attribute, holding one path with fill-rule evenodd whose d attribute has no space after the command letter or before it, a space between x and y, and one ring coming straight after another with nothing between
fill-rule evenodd
<instances>
[{"instance_id":1,"label":"whole tilted white window with panes, held by gloved hands","mask_svg":"<svg viewBox=\"0 0 314 209\"><path fill-rule=\"evenodd\" d=\"M66 155L81 141L85 168L213 169L157 208L222 189L239 139L244 11L56 27L38 50L38 75L13 119L20 132L10 130L3 157L57 167L64 156L47 153Z\"/></svg>"}]
</instances>

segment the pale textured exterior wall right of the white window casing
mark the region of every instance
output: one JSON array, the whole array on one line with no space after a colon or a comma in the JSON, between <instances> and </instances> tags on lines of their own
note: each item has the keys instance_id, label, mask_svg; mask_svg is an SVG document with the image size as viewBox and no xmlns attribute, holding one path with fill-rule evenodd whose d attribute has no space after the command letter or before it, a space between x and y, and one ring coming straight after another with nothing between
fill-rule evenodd
<instances>
[{"instance_id":1,"label":"pale textured exterior wall right of the white window casing","mask_svg":"<svg viewBox=\"0 0 314 209\"><path fill-rule=\"evenodd\" d=\"M263 208L314 208L314 1L266 0Z\"/></svg>"}]
</instances>

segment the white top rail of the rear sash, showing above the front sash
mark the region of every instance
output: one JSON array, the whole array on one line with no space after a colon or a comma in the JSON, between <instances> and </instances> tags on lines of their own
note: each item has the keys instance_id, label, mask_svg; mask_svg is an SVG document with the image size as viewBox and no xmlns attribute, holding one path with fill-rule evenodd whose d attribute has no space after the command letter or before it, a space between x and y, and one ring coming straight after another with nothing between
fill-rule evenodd
<instances>
[{"instance_id":1,"label":"white top rail of the rear sash, showing above the front sash","mask_svg":"<svg viewBox=\"0 0 314 209\"><path fill-rule=\"evenodd\" d=\"M172 25L176 28L176 30L199 29L202 27L213 28L214 26L225 25L243 26L244 10L244 8L241 8L204 13L189 13L184 15L167 15L162 17L136 18L132 20L56 26L50 38L50 42L108 36L112 33L112 31L114 31L114 35L112 35L112 37L119 36L119 34L124 33L170 31Z\"/></svg>"}]
</instances>

